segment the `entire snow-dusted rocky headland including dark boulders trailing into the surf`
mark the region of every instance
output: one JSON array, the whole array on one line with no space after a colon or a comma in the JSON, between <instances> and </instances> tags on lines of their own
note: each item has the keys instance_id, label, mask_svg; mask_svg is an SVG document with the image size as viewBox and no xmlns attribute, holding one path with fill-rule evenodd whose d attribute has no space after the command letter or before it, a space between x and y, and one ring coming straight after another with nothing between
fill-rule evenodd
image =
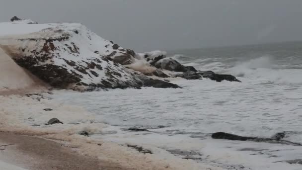
<instances>
[{"instance_id":1,"label":"entire snow-dusted rocky headland including dark boulders trailing into the surf","mask_svg":"<svg viewBox=\"0 0 302 170\"><path fill-rule=\"evenodd\" d=\"M200 72L181 65L167 58L165 52L136 53L122 48L82 24L37 24L18 17L11 21L0 26L18 28L20 33L0 37L0 47L19 66L56 88L79 91L143 86L179 88L160 80L169 77L240 82L231 75Z\"/></svg>"}]
</instances>

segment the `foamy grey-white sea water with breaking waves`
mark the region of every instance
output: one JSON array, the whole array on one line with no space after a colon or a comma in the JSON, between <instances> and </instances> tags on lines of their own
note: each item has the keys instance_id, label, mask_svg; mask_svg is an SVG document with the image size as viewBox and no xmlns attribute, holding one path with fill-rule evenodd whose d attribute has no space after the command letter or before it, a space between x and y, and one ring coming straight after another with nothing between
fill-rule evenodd
<instances>
[{"instance_id":1,"label":"foamy grey-white sea water with breaking waves","mask_svg":"<svg viewBox=\"0 0 302 170\"><path fill-rule=\"evenodd\" d=\"M170 79L183 88L55 91L51 97L82 106L95 121L110 125L90 136L94 139L139 145L154 154L228 170L302 170L302 165L283 162L302 159L301 146L211 139L220 131L264 138L285 132L285 140L302 143L301 42L168 55L198 70L232 74L242 83ZM129 127L149 132L130 132Z\"/></svg>"}]
</instances>

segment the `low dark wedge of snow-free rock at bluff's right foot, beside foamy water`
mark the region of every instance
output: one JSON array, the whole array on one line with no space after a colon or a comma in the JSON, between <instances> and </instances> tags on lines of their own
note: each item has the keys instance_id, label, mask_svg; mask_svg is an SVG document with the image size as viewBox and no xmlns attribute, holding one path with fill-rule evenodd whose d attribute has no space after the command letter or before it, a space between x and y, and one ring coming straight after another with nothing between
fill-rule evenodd
<instances>
[{"instance_id":1,"label":"low dark wedge of snow-free rock at bluff's right foot, beside foamy water","mask_svg":"<svg viewBox=\"0 0 302 170\"><path fill-rule=\"evenodd\" d=\"M157 80L157 79L150 79L147 77L140 77L142 82L143 82L143 86L145 87L154 87L154 88L181 88L178 85L172 84L172 83L168 83L165 81L161 81L161 80Z\"/></svg>"}]
</instances>

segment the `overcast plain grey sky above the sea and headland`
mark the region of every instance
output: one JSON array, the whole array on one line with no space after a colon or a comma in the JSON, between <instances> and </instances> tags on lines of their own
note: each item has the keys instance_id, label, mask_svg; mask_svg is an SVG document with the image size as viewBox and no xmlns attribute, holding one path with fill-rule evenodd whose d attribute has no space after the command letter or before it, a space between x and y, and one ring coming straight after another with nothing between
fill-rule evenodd
<instances>
[{"instance_id":1,"label":"overcast plain grey sky above the sea and headland","mask_svg":"<svg viewBox=\"0 0 302 170\"><path fill-rule=\"evenodd\" d=\"M302 0L0 0L0 21L13 15L81 22L138 52L302 40Z\"/></svg>"}]
</instances>

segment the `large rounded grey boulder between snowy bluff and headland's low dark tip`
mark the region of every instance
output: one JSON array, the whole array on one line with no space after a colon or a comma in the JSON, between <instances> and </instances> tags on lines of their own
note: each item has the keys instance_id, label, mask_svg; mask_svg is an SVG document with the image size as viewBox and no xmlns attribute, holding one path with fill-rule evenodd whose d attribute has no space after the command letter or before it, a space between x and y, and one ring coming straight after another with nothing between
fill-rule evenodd
<instances>
[{"instance_id":1,"label":"large rounded grey boulder between snowy bluff and headland's low dark tip","mask_svg":"<svg viewBox=\"0 0 302 170\"><path fill-rule=\"evenodd\" d=\"M165 69L165 70L169 70L172 72L189 72L189 71L193 71L193 72L197 72L197 70L192 67L192 66L183 66L180 63L178 63L176 60L171 59L171 58L164 58L162 60L157 61L154 64L154 67L158 68L158 69Z\"/></svg>"}]
</instances>

